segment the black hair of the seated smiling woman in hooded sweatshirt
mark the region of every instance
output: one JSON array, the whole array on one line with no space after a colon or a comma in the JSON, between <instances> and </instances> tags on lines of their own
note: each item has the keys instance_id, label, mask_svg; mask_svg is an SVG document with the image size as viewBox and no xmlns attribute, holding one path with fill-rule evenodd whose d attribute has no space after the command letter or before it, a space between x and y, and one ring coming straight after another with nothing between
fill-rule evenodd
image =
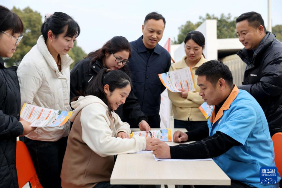
<instances>
[{"instance_id":1,"label":"black hair of the seated smiling woman in hooded sweatshirt","mask_svg":"<svg viewBox=\"0 0 282 188\"><path fill-rule=\"evenodd\" d=\"M132 84L130 77L124 71L106 68L100 70L95 79L89 83L83 96L94 95L99 97L108 106L109 114L111 114L112 109L104 92L104 86L106 84L109 85L110 92L113 92L115 89L124 88L127 85L131 86Z\"/></svg>"}]
</instances>

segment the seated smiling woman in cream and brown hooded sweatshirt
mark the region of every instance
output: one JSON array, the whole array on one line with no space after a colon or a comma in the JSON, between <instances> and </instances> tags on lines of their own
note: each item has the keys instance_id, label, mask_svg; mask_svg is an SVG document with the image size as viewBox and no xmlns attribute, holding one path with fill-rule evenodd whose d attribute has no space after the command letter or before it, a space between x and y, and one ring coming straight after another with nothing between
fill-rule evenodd
<instances>
[{"instance_id":1,"label":"seated smiling woman in cream and brown hooded sweatshirt","mask_svg":"<svg viewBox=\"0 0 282 188\"><path fill-rule=\"evenodd\" d=\"M72 102L73 127L61 171L62 187L122 187L110 185L114 155L150 150L151 138L134 136L130 127L113 111L125 102L130 78L121 70L102 69Z\"/></svg>"}]
</instances>

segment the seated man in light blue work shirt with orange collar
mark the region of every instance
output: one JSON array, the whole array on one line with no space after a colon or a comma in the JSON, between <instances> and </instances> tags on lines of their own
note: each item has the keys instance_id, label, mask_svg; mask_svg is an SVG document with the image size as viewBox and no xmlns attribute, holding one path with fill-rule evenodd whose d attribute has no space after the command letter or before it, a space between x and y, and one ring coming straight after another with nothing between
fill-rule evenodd
<instances>
[{"instance_id":1,"label":"seated man in light blue work shirt with orange collar","mask_svg":"<svg viewBox=\"0 0 282 188\"><path fill-rule=\"evenodd\" d=\"M158 158L213 158L231 179L231 185L224 187L278 188L278 172L267 185L260 181L260 168L275 163L267 120L258 102L233 84L231 71L220 61L205 62L196 75L199 95L208 105L215 105L207 127L174 133L174 142L198 140L191 144L153 142L153 154Z\"/></svg>"}]
</instances>

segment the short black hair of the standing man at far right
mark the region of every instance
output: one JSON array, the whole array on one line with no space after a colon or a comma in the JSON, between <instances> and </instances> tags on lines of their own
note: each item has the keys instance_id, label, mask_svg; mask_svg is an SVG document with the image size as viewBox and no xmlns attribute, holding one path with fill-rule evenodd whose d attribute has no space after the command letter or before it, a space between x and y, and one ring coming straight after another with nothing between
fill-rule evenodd
<instances>
[{"instance_id":1,"label":"short black hair of the standing man at far right","mask_svg":"<svg viewBox=\"0 0 282 188\"><path fill-rule=\"evenodd\" d=\"M257 12L253 12L253 11L243 13L239 17L237 17L236 23L243 21L243 20L248 20L249 25L254 28L258 28L260 25L262 25L264 32L266 33L266 28L265 28L264 21L262 19L261 14Z\"/></svg>"}]
</instances>

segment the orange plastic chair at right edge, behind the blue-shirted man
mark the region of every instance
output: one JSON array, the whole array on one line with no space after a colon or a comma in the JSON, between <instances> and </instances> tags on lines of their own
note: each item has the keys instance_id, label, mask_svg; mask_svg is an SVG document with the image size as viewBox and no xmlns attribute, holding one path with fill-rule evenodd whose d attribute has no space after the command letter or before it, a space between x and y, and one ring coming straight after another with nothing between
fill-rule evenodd
<instances>
[{"instance_id":1,"label":"orange plastic chair at right edge, behind the blue-shirted man","mask_svg":"<svg viewBox=\"0 0 282 188\"><path fill-rule=\"evenodd\" d=\"M282 175L282 133L275 133L271 137L271 139L273 141L273 147L274 147L275 165L281 176Z\"/></svg>"}]
</instances>

